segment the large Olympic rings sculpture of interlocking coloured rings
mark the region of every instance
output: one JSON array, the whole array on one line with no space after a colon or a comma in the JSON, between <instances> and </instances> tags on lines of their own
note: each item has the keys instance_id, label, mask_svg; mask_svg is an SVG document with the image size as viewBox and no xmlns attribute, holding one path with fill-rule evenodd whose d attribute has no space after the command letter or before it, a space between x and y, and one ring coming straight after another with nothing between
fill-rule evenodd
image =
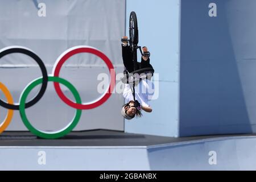
<instances>
[{"instance_id":1,"label":"large Olympic rings sculpture of interlocking coloured rings","mask_svg":"<svg viewBox=\"0 0 256 182\"><path fill-rule=\"evenodd\" d=\"M0 134L7 128L7 126L10 124L11 119L13 117L14 110L19 110L20 117L22 118L22 121L24 125L27 127L28 130L31 131L31 133L35 134L36 136L40 138L48 138L48 139L54 139L54 138L60 138L64 135L68 134L70 131L74 129L74 127L79 122L79 119L82 114L83 109L93 109L95 107L98 107L102 105L104 102L108 100L108 98L111 96L114 85L115 85L115 71L112 62L109 60L109 58L99 51L98 49L90 46L75 46L72 48L67 49L67 51L63 52L55 61L55 64L52 69L52 75L47 74L46 66L44 65L43 61L40 59L38 55L36 55L35 52L33 52L31 49L28 49L26 47L21 46L10 46L5 47L0 50L0 59L3 56L9 55L10 53L23 53L27 56L30 56L32 59L38 63L41 72L42 77L36 78L34 81L30 82L26 88L23 90L20 98L19 98L19 104L14 104L13 97L11 96L10 91L6 88L6 86L0 82L0 89L2 90L3 94L6 97L7 103L5 101L2 101L0 99L0 106L5 107L8 109L7 115L5 120L0 124ZM64 80L63 78L59 77L61 66L69 59L69 57L77 54L77 53L92 53L98 57L100 57L102 60L104 60L105 64L109 68L110 72L110 84L108 90L98 98L97 100L89 103L82 103L81 98L79 95L79 92L76 90L76 88L67 80ZM63 129L60 129L58 131L54 132L46 132L36 129L34 126L31 125L30 121L28 121L28 118L26 117L26 111L25 109L28 107L31 107L32 105L35 105L40 98L43 97L44 93L47 89L48 81L53 82L55 90L58 94L58 96L61 98L62 101L65 102L65 104L73 107L76 109L76 115L73 118L71 122L68 123L67 126L63 127ZM35 88L35 86L42 84L38 94L32 98L31 101L26 102L26 98L30 91ZM63 84L67 86L69 90L71 90L71 93L75 97L75 102L69 100L64 93L61 91L60 84Z\"/></svg>"}]
</instances>

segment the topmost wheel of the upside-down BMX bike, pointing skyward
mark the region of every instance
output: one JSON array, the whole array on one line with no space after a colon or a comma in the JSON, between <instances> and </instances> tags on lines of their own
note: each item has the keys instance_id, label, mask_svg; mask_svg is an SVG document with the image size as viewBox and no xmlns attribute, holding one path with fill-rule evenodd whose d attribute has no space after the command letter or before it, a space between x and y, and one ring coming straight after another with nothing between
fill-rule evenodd
<instances>
[{"instance_id":1,"label":"topmost wheel of the upside-down BMX bike, pointing skyward","mask_svg":"<svg viewBox=\"0 0 256 182\"><path fill-rule=\"evenodd\" d=\"M129 34L130 34L130 41L132 46L137 46L139 42L139 35L138 35L138 23L137 23L137 16L134 11L130 13L130 27L129 27Z\"/></svg>"}]
</instances>

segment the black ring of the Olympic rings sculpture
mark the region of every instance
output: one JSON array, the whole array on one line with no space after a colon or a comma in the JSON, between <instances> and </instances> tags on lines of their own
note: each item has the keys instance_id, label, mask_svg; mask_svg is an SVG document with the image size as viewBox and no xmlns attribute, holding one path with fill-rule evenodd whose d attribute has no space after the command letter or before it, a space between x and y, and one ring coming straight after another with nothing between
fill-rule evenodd
<instances>
[{"instance_id":1,"label":"black ring of the Olympic rings sculpture","mask_svg":"<svg viewBox=\"0 0 256 182\"><path fill-rule=\"evenodd\" d=\"M31 101L29 101L25 104L25 108L31 107L32 105L36 104L36 102L38 102L40 100L40 98L43 97L44 92L46 92L47 83L48 83L48 75L47 75L46 66L44 65L44 63L40 59L40 57L38 57L38 55L36 55L34 52L30 51L29 49L26 49L25 47L15 46L13 48L10 48L10 47L7 47L7 48L8 49L0 52L0 59L3 56L9 55L10 53L23 53L27 56L32 57L32 59L34 59L36 61L36 63L38 63L38 65L42 71L43 82L42 82L42 86L41 86L38 94ZM6 109L19 110L19 105L7 104L6 102L2 101L1 99L0 99L0 105L5 107Z\"/></svg>"}]
</instances>

